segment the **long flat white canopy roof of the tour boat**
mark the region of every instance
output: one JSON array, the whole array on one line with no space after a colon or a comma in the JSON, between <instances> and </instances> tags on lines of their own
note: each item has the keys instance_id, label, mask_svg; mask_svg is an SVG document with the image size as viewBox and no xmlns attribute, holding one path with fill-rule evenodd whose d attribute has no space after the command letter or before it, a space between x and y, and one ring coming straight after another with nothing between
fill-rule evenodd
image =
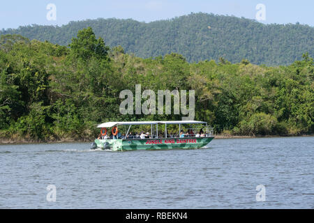
<instances>
[{"instance_id":1,"label":"long flat white canopy roof of the tour boat","mask_svg":"<svg viewBox=\"0 0 314 223\"><path fill-rule=\"evenodd\" d=\"M115 125L163 125L163 124L207 124L204 121L117 121L117 122L108 122L102 123L97 126L97 128L111 128Z\"/></svg>"}]
</instances>

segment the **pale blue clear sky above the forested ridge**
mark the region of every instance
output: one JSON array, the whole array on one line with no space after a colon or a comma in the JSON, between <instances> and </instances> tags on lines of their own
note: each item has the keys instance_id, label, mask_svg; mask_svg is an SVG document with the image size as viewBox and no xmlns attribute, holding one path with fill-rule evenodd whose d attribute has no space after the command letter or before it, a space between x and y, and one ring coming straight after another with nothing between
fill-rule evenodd
<instances>
[{"instance_id":1,"label":"pale blue clear sky above the forested ridge","mask_svg":"<svg viewBox=\"0 0 314 223\"><path fill-rule=\"evenodd\" d=\"M50 3L55 10L47 8ZM31 24L61 26L70 21L112 17L151 22L200 12L257 20L261 10L264 17L259 22L264 24L299 22L314 26L313 0L1 0L0 29Z\"/></svg>"}]
</instances>

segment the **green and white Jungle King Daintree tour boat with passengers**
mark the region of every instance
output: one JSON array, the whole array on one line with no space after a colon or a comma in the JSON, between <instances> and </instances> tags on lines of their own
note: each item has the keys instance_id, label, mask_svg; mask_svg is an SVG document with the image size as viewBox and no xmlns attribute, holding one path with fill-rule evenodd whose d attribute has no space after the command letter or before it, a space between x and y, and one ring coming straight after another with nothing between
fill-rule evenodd
<instances>
[{"instance_id":1,"label":"green and white Jungle King Daintree tour boat with passengers","mask_svg":"<svg viewBox=\"0 0 314 223\"><path fill-rule=\"evenodd\" d=\"M140 134L137 134L137 136L130 135L131 127L134 125L150 125L146 127L150 127L151 132L147 132L147 134L142 133L141 136ZM162 128L162 134L158 134L158 125L162 125L165 128ZM177 126L179 130L173 134L174 128L172 128L172 134L170 134L170 132L167 132L167 125L168 127L170 125L179 125ZM186 128L187 125L189 126L188 128ZM214 139L212 128L209 129L207 123L203 121L107 122L98 125L97 128L101 128L100 137L92 144L92 148L110 151L202 148ZM107 136L107 129L110 128L112 128L111 139ZM138 128L139 126L137 126ZM186 134L182 134L184 129L188 129ZM120 133L121 130L126 130L126 134L122 135ZM194 132L197 133L195 134Z\"/></svg>"}]
</instances>

